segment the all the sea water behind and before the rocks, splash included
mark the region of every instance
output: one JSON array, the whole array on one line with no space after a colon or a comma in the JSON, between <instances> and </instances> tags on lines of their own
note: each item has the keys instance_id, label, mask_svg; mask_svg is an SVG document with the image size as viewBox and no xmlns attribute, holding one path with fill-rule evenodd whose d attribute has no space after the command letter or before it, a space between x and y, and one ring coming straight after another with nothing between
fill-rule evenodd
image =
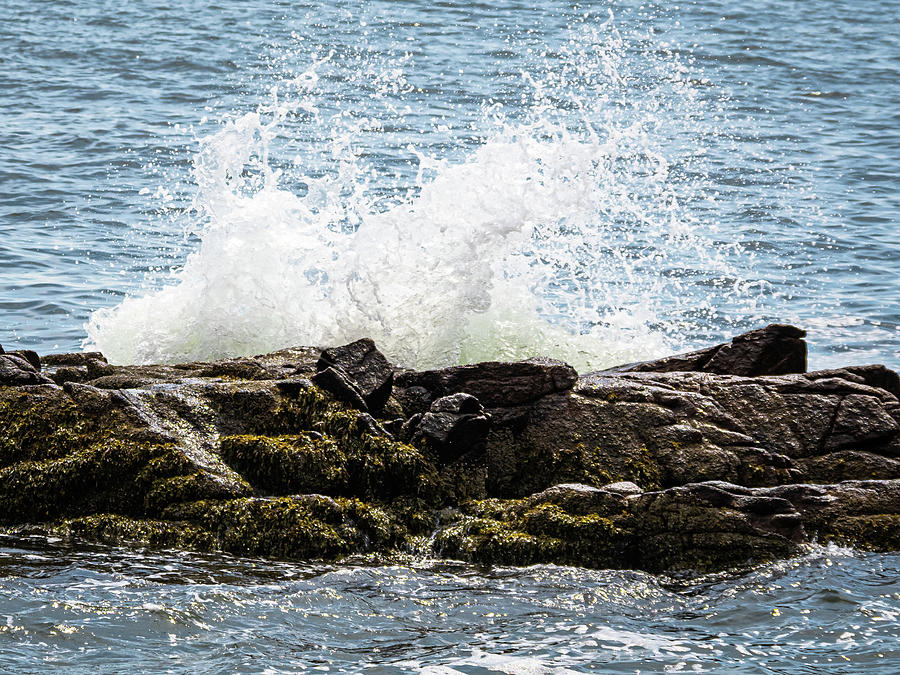
<instances>
[{"instance_id":1,"label":"all the sea water behind and before the rocks, splash included","mask_svg":"<svg viewBox=\"0 0 900 675\"><path fill-rule=\"evenodd\" d=\"M900 2L0 2L0 344L900 367ZM900 559L672 579L0 542L0 670L897 671ZM4 625L5 624L5 625Z\"/></svg>"}]
</instances>

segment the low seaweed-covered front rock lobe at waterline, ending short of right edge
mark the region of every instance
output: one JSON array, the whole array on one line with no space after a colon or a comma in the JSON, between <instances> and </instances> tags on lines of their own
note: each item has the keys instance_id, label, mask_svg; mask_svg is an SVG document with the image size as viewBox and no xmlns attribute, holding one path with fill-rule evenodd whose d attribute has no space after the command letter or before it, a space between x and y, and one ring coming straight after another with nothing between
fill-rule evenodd
<instances>
[{"instance_id":1,"label":"low seaweed-covered front rock lobe at waterline, ending short of right edge","mask_svg":"<svg viewBox=\"0 0 900 675\"><path fill-rule=\"evenodd\" d=\"M715 570L794 555L801 514L778 495L722 482L623 495L557 485L524 500L466 504L434 537L479 563Z\"/></svg>"}]
</instances>

